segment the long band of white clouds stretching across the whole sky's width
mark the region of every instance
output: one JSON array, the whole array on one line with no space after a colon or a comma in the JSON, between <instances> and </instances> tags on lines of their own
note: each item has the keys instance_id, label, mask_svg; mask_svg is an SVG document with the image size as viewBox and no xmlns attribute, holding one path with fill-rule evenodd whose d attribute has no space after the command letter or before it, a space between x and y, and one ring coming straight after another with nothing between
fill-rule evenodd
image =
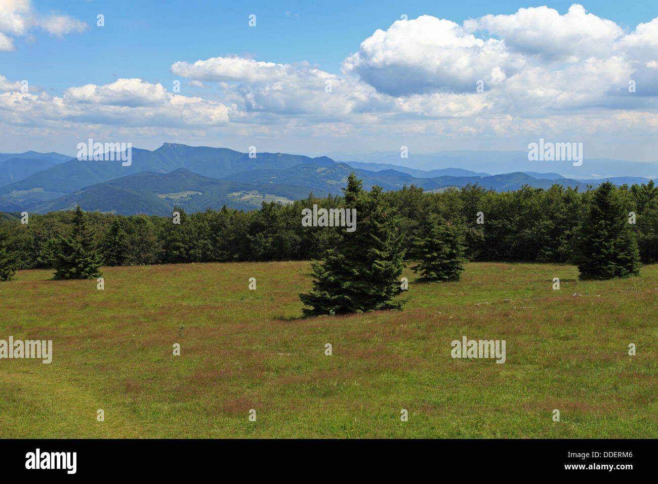
<instances>
[{"instance_id":1,"label":"long band of white clouds stretching across the whole sky's width","mask_svg":"<svg viewBox=\"0 0 658 484\"><path fill-rule=\"evenodd\" d=\"M3 22L19 32L21 18ZM355 48L342 75L308 62L245 57L171 65L174 76L209 88L214 100L172 94L138 78L74 86L51 97L21 93L19 82L0 76L0 92L7 91L0 94L0 121L223 126L278 138L303 130L336 138L534 136L614 132L624 122L657 130L658 18L628 34L580 5L565 14L537 7L463 25L420 16L376 30ZM636 92L628 90L631 80Z\"/></svg>"}]
</instances>

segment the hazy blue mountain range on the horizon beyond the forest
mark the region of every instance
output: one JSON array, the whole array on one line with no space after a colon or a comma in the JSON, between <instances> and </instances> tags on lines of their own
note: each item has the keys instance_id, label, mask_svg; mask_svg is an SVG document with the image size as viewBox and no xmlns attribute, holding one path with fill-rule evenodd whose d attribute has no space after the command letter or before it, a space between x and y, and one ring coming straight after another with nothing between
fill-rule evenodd
<instances>
[{"instance_id":1,"label":"hazy blue mountain range on the horizon beyond the forest","mask_svg":"<svg viewBox=\"0 0 658 484\"><path fill-rule=\"evenodd\" d=\"M468 153L480 153L480 167L499 163L495 160L499 155L492 152ZM464 161L463 153L460 156L455 160ZM389 155L379 159L388 160ZM351 171L363 179L366 188L379 185L385 190L414 184L426 191L442 191L469 183L497 191L517 190L524 184L549 188L555 183L586 190L588 184L596 186L602 181L536 171L490 175L463 167L436 169L436 159L428 171L380 161L338 162L326 156L287 153L250 157L228 148L171 143L153 151L133 148L132 164L125 167L121 161L79 161L59 153L0 153L0 211L46 213L72 209L76 204L88 211L122 215L166 215L174 204L189 212L219 209L224 204L249 210L263 201L290 203L307 198L310 192L316 196L340 194ZM461 161L459 166L463 166ZM610 179L615 184L649 181L640 176Z\"/></svg>"}]
</instances>

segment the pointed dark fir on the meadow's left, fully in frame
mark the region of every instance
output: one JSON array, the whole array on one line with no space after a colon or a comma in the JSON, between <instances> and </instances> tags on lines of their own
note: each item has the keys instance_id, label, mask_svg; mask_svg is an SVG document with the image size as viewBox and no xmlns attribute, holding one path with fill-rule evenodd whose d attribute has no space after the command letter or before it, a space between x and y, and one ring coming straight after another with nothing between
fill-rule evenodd
<instances>
[{"instance_id":1,"label":"pointed dark fir on the meadow's left, fully in frame","mask_svg":"<svg viewBox=\"0 0 658 484\"><path fill-rule=\"evenodd\" d=\"M87 227L84 212L76 206L73 215L73 233L60 237L55 254L54 279L96 279L101 277L101 256L96 252L95 230Z\"/></svg>"}]
</instances>

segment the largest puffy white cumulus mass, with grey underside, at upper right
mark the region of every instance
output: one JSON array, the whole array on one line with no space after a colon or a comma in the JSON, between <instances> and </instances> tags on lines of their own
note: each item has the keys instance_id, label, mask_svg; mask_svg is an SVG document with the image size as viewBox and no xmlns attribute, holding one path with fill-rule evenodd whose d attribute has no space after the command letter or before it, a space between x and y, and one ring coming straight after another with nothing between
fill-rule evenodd
<instances>
[{"instance_id":1,"label":"largest puffy white cumulus mass, with grey underside, at upper right","mask_svg":"<svg viewBox=\"0 0 658 484\"><path fill-rule=\"evenodd\" d=\"M453 116L655 109L657 47L658 18L624 34L581 5L562 15L548 7L485 15L463 26L420 16L374 32L343 61L343 72L428 116L449 115L446 103L458 108ZM472 97L478 81L486 101ZM630 81L636 93L629 92Z\"/></svg>"}]
</instances>

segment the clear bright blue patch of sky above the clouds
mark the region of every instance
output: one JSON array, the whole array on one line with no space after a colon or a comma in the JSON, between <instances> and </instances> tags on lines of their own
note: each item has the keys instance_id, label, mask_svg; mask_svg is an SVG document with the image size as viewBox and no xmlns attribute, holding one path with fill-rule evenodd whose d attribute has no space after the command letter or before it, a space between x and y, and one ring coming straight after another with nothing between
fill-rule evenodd
<instances>
[{"instance_id":1,"label":"clear bright blue patch of sky above the clouds","mask_svg":"<svg viewBox=\"0 0 658 484\"><path fill-rule=\"evenodd\" d=\"M573 1L34 1L44 14L68 14L87 22L84 34L53 37L30 32L34 42L16 41L14 52L0 53L4 76L34 79L62 94L70 86L105 84L119 77L167 82L176 61L218 55L253 54L274 63L309 61L333 74L372 32L388 28L401 14L428 14L461 23L488 13L512 14L522 7L549 5L566 13ZM651 5L653 3L653 5ZM651 1L582 1L588 12L633 28L658 15ZM105 28L95 28L105 15ZM257 28L249 28L249 14ZM84 67L84 68L83 68Z\"/></svg>"}]
</instances>

